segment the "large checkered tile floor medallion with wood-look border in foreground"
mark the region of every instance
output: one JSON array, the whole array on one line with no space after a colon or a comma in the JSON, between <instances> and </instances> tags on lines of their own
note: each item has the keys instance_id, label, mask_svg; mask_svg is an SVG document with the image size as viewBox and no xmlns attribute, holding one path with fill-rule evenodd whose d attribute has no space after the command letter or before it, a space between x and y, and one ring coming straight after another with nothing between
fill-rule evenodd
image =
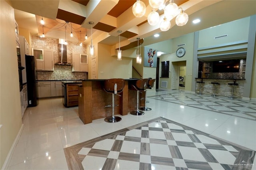
<instances>
[{"instance_id":1,"label":"large checkered tile floor medallion with wood-look border in foreground","mask_svg":"<svg viewBox=\"0 0 256 170\"><path fill-rule=\"evenodd\" d=\"M255 151L159 117L64 148L71 170L251 170Z\"/></svg>"}]
</instances>

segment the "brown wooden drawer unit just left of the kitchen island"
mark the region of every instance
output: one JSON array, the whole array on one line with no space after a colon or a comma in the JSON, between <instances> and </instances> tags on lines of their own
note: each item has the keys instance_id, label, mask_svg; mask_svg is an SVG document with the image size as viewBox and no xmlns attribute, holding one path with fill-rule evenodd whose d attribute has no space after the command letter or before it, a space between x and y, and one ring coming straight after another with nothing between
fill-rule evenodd
<instances>
[{"instance_id":1,"label":"brown wooden drawer unit just left of the kitchen island","mask_svg":"<svg viewBox=\"0 0 256 170\"><path fill-rule=\"evenodd\" d=\"M81 84L66 84L66 107L78 106L78 87Z\"/></svg>"}]
</instances>

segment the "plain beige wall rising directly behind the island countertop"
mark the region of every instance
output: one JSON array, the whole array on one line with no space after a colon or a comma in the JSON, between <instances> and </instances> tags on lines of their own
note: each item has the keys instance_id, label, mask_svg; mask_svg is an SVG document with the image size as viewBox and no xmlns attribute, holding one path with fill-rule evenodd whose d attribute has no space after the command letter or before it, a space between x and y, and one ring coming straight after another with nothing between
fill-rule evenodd
<instances>
[{"instance_id":1,"label":"plain beige wall rising directly behind the island countertop","mask_svg":"<svg viewBox=\"0 0 256 170\"><path fill-rule=\"evenodd\" d=\"M132 58L122 57L118 61L111 56L111 46L98 43L98 79L132 77Z\"/></svg>"}]
</instances>

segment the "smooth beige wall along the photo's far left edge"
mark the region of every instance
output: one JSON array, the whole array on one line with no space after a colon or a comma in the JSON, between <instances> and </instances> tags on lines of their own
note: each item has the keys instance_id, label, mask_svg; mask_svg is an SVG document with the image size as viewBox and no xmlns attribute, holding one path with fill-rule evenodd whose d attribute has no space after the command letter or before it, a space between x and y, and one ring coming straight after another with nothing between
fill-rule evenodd
<instances>
[{"instance_id":1,"label":"smooth beige wall along the photo's far left edge","mask_svg":"<svg viewBox=\"0 0 256 170\"><path fill-rule=\"evenodd\" d=\"M0 1L0 167L20 130L21 108L14 9Z\"/></svg>"}]
</instances>

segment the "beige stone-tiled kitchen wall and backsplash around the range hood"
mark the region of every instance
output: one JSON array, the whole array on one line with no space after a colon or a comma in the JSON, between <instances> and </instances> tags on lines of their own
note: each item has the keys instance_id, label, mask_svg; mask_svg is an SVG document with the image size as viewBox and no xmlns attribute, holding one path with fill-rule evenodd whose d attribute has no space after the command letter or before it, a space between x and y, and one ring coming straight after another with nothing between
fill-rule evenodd
<instances>
[{"instance_id":1,"label":"beige stone-tiled kitchen wall and backsplash around the range hood","mask_svg":"<svg viewBox=\"0 0 256 170\"><path fill-rule=\"evenodd\" d=\"M31 37L32 48L52 49L54 53L54 63L60 61L59 57L59 40L54 38ZM72 52L86 53L86 45L68 42L67 61L72 63ZM37 71L38 80L79 80L88 79L88 73L72 72L72 65L54 65L54 71Z\"/></svg>"}]
</instances>

